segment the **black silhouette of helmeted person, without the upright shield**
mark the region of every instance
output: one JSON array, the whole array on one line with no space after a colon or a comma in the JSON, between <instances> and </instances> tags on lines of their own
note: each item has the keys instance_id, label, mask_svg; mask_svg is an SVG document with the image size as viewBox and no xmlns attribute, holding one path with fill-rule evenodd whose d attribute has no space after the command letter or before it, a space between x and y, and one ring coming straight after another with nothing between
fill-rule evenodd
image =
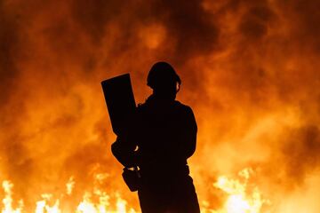
<instances>
[{"instance_id":1,"label":"black silhouette of helmeted person, without the upright shield","mask_svg":"<svg viewBox=\"0 0 320 213\"><path fill-rule=\"evenodd\" d=\"M189 106L175 100L180 83L170 64L151 67L148 86L153 93L137 107L131 130L112 145L124 167L140 168L143 213L200 212L187 163L196 150L196 120Z\"/></svg>"}]
</instances>

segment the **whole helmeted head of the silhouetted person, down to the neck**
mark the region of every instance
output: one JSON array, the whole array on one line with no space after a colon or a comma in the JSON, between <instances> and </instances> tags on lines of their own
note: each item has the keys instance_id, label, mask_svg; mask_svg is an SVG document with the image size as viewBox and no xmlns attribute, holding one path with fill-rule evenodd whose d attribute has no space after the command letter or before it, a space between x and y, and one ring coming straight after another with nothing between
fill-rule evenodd
<instances>
[{"instance_id":1,"label":"whole helmeted head of the silhouetted person, down to the neck","mask_svg":"<svg viewBox=\"0 0 320 213\"><path fill-rule=\"evenodd\" d=\"M156 96L175 99L180 90L181 80L170 64L160 61L151 67L147 84Z\"/></svg>"}]
</instances>

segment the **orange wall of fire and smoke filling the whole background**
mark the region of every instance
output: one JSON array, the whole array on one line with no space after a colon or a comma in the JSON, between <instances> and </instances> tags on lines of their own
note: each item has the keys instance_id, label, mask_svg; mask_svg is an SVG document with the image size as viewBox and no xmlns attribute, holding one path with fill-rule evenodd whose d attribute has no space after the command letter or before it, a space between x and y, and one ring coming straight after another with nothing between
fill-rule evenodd
<instances>
[{"instance_id":1,"label":"orange wall of fire and smoke filling the whole background","mask_svg":"<svg viewBox=\"0 0 320 213\"><path fill-rule=\"evenodd\" d=\"M166 60L198 123L202 212L320 209L320 3L0 1L3 213L139 212L110 153L100 81L137 102Z\"/></svg>"}]
</instances>

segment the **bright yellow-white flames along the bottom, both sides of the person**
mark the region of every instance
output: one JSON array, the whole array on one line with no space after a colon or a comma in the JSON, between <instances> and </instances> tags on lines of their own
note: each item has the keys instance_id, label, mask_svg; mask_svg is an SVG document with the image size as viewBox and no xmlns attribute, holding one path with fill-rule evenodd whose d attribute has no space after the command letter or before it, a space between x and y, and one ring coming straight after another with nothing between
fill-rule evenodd
<instances>
[{"instance_id":1,"label":"bright yellow-white flames along the bottom, both sides of the person","mask_svg":"<svg viewBox=\"0 0 320 213\"><path fill-rule=\"evenodd\" d=\"M203 201L202 212L212 213L263 213L261 211L263 205L269 205L270 201L262 199L258 186L254 186L249 192L250 176L252 169L244 169L238 172L236 179L226 176L218 177L217 181L212 184L213 187L220 189L228 195L224 205L220 209L207 208L208 203ZM101 181L108 177L108 174L97 174L96 180ZM41 194L42 200L36 201L35 213L62 213L66 212L60 208L60 202L65 201L67 195L72 195L73 189L76 187L74 177L68 179L66 184L66 192L61 194L60 199L52 200L52 193ZM13 208L12 203L13 184L9 180L3 181L4 189L4 208L2 213L23 213L23 200L19 201L18 207ZM128 207L120 193L114 194L116 197L116 209L110 206L110 195L99 187L95 187L92 192L85 192L82 201L80 201L73 212L76 213L136 213L139 212ZM70 197L68 197L70 199ZM67 200L68 200L67 199Z\"/></svg>"}]
</instances>

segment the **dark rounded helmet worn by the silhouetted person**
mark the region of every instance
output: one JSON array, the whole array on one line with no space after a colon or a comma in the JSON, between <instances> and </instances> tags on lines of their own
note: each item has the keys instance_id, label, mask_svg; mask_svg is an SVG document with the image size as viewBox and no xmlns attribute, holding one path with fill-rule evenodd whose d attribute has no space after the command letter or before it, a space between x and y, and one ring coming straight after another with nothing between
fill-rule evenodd
<instances>
[{"instance_id":1,"label":"dark rounded helmet worn by the silhouetted person","mask_svg":"<svg viewBox=\"0 0 320 213\"><path fill-rule=\"evenodd\" d=\"M147 85L155 90L164 88L169 83L176 83L177 92L180 90L181 80L173 67L164 61L156 62L148 73Z\"/></svg>"}]
</instances>

